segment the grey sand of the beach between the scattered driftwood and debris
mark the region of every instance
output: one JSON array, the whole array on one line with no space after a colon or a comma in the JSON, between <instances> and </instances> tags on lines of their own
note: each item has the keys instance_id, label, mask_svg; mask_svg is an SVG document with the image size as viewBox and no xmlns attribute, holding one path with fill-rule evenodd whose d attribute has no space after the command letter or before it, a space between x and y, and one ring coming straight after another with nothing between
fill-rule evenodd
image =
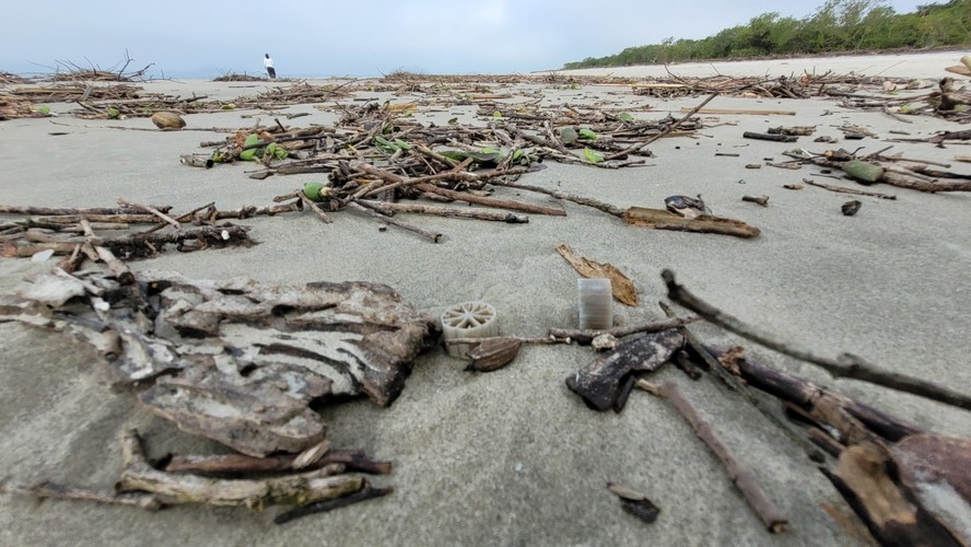
<instances>
[{"instance_id":1,"label":"grey sand of the beach between the scattered driftwood and debris","mask_svg":"<svg viewBox=\"0 0 971 547\"><path fill-rule=\"evenodd\" d=\"M937 80L960 54L861 56L751 62L678 65L686 77L791 75L804 71ZM561 72L563 75L568 72ZM664 67L625 67L576 74L663 77ZM967 84L968 78L958 78ZM311 81L311 83L321 83ZM148 91L230 100L256 94L266 82L154 81ZM286 85L282 82L272 85ZM542 104L609 104L631 108L637 119L683 115L703 96L663 101L635 95L629 86L502 85L493 91L541 93ZM528 100L531 98L533 95ZM356 98L408 102L414 97L359 92ZM523 98L514 97L515 103ZM350 101L348 101L349 104ZM360 104L360 103L359 103ZM51 104L52 112L77 107ZM647 108L650 107L650 109ZM448 306L481 300L492 304L503 334L543 336L550 327L575 327L576 272L557 253L577 254L620 268L634 281L636 307L615 303L615 324L664 318L660 271L709 302L774 335L822 356L847 351L870 362L955 389L971 391L971 195L924 194L887 185L869 189L896 200L858 197L862 209L844 217L847 196L816 187L783 185L816 178L817 168L746 168L785 161L799 146L890 152L950 163L966 146L885 142L905 131L926 138L967 129L933 116L903 123L881 112L846 108L832 98L768 100L720 96L707 107L794 110L795 116L703 115L693 137L651 144L646 166L620 170L564 165L527 174L524 184L595 197L617 207L664 207L671 195L701 194L718 216L761 230L752 240L648 230L590 208L551 197L499 188L498 197L562 207L566 217L530 216L527 224L402 216L444 234L433 244L363 216L334 214L325 225L313 214L254 218L260 242L249 248L167 253L132 261L136 271L172 269L198 279L245 276L279 283L362 280L386 283L419 311L438 316ZM476 105L418 108L422 124L483 121ZM288 124L334 124L337 116L313 105L285 112L309 115ZM253 112L188 115L187 128L247 127ZM266 119L271 119L272 116ZM283 120L286 121L286 120ZM57 125L54 125L54 124ZM744 131L817 126L817 136L841 137L852 124L878 138L798 144L742 139ZM118 198L171 205L186 211L210 201L222 209L267 205L273 196L319 175L248 178L246 165L212 170L179 164L202 152L200 141L224 133L127 131L106 126L153 128L149 119L49 119L0 123L0 203L8 206L113 207ZM51 132L67 135L51 136ZM737 155L716 155L720 153ZM853 185L849 181L833 184ZM861 186L861 188L863 188ZM741 200L765 195L769 207ZM2 217L3 220L10 218ZM48 271L54 261L0 258L0 292ZM739 338L699 324L715 345ZM969 437L967 411L863 382L833 380L824 371L745 344L761 361L818 382L931 431ZM507 368L465 372L465 361L441 348L421 354L401 396L388 408L354 400L321 410L331 445L364 449L394 463L374 479L393 486L387 497L278 526L276 509L176 507L157 513L73 501L0 497L2 545L772 545L866 543L865 528L805 453L740 397L713 377L689 382L672 366L653 380L676 380L711 419L717 433L752 466L765 490L787 514L789 528L765 532L724 468L689 426L663 400L633 393L620 414L596 412L571 393L565 379L596 356L577 346L526 346ZM0 324L0 476L50 479L109 488L117 479L117 435L137 428L151 456L224 451L214 442L178 431L141 410L134 398L98 382L103 366L86 346L67 336L20 324ZM2 477L0 477L2 478ZM607 482L645 492L660 516L651 525L620 510ZM835 516L834 516L835 515ZM842 516L840 516L842 515Z\"/></svg>"}]
</instances>

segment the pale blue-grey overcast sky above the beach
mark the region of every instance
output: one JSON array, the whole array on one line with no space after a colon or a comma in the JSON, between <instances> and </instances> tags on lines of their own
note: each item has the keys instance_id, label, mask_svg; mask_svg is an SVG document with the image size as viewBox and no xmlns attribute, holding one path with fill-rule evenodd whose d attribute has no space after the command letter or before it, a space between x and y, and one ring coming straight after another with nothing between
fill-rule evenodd
<instances>
[{"instance_id":1,"label":"pale blue-grey overcast sky above the beach","mask_svg":"<svg viewBox=\"0 0 971 547\"><path fill-rule=\"evenodd\" d=\"M822 1L13 1L0 10L0 70L109 69L127 48L129 69L154 62L156 77L261 73L265 53L281 77L529 72L703 38L770 11L803 18ZM889 4L903 13L932 1Z\"/></svg>"}]
</instances>

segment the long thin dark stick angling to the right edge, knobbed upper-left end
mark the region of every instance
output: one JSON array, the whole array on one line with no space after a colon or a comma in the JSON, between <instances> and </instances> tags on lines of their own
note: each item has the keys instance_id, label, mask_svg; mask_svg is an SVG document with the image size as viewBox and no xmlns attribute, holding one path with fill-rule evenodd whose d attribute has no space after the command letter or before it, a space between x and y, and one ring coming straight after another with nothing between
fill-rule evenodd
<instances>
[{"instance_id":1,"label":"long thin dark stick angling to the right edge, knobbed upper-left end","mask_svg":"<svg viewBox=\"0 0 971 547\"><path fill-rule=\"evenodd\" d=\"M871 364L865 363L858 357L847 353L841 356L839 360L828 359L816 356L807 349L792 347L777 341L773 339L771 335L757 330L754 327L742 323L735 316L712 306L689 292L675 281L675 274L671 270L666 269L662 271L660 277L664 279L665 284L667 284L668 298L697 313L703 319L771 350L779 351L780 353L800 361L806 361L807 363L816 364L817 366L824 369L834 377L849 377L869 382L871 384L881 385L884 387L913 395L920 395L946 405L971 410L971 396L955 392L948 387L908 376L906 374L877 369Z\"/></svg>"}]
</instances>

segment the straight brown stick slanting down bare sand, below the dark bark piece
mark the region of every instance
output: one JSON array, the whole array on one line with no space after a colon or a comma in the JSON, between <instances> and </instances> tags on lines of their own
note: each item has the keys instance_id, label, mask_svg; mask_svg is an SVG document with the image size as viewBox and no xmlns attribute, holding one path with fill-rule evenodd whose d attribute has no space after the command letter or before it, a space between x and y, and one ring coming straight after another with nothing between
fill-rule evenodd
<instances>
[{"instance_id":1,"label":"straight brown stick slanting down bare sand, below the dark bark piece","mask_svg":"<svg viewBox=\"0 0 971 547\"><path fill-rule=\"evenodd\" d=\"M732 482L735 484L752 509L756 510L756 513L759 514L765 528L773 534L779 534L785 531L785 527L788 524L788 519L785 517L782 510L780 510L769 498L752 472L732 453L721 439L718 439L714 429L712 429L711 423L698 414L698 410L694 409L691 401L688 400L678 388L678 384L674 382L665 382L658 386L644 380L639 380L634 385L667 399L668 403L670 403L671 406L674 406L675 409L677 409L688 421L688 423L691 424L691 428L694 430L694 433L699 439L704 441L707 447L715 453L722 462L722 465L724 465L725 469L728 472L728 477L732 479Z\"/></svg>"}]
</instances>

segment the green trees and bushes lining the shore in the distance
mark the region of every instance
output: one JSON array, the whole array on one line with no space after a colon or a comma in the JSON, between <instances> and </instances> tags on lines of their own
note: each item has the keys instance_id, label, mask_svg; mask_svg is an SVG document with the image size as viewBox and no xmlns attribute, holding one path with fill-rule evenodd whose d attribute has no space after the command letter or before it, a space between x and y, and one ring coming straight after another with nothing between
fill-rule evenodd
<instances>
[{"instance_id":1,"label":"green trees and bushes lining the shore in the distance","mask_svg":"<svg viewBox=\"0 0 971 547\"><path fill-rule=\"evenodd\" d=\"M629 47L608 57L568 62L563 68L968 44L971 44L971 0L920 5L913 13L897 13L884 0L827 0L804 19L763 13L747 25L726 28L707 38L668 38L662 44Z\"/></svg>"}]
</instances>

